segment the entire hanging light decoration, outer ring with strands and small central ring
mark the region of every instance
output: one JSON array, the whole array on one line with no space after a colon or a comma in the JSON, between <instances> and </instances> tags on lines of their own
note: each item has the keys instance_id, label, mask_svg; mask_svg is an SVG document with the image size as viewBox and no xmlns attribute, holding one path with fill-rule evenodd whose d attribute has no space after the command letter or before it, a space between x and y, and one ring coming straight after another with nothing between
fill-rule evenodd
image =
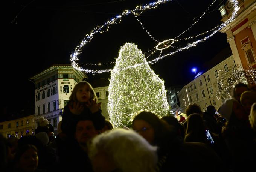
<instances>
[{"instance_id":1,"label":"entire hanging light decoration, outer ring with strands and small central ring","mask_svg":"<svg viewBox=\"0 0 256 172\"><path fill-rule=\"evenodd\" d=\"M208 30L208 31L205 31L203 33L200 33L200 34L197 34L197 35L194 35L194 36L190 36L190 37L186 37L186 38L183 38L183 39L178 39L181 35L183 35L186 31L188 31L190 28L192 28L207 12L208 10L210 9L210 7L212 6L213 3L215 3L216 0L213 1L212 4L210 4L210 6L207 8L207 10L203 13L203 15L200 16L200 18L195 21L189 28L187 28L186 30L184 30L181 34L179 34L177 37L174 37L174 38L170 38L170 39L167 39L167 40L163 40L163 41L158 41L156 40L150 33L148 30L146 30L145 27L143 27L143 24L142 22L139 21L139 19L137 18L138 16L140 16L144 11L146 10L149 10L149 9L155 9L158 7L158 5L160 4L164 4L164 3L167 3L167 2L170 2L172 0L158 0L158 1L155 1L155 2L152 2L152 3L149 3L149 4L146 4L146 5L140 5L140 6L137 6L134 10L124 10L120 15L117 15L115 18L112 18L111 20L108 20L108 21L105 21L104 24L102 25L99 25L97 27L95 27L93 30L91 30L91 32L89 34L87 34L85 36L85 38L81 41L80 45L77 46L75 48L75 51L70 55L70 61L71 61L71 64L72 66L76 69L76 70L81 70L81 71L85 71L86 73L103 73L103 72L111 72L113 69L104 69L104 70L100 70L100 69L97 69L97 70L91 70L91 69L83 69L81 66L81 64L79 64L77 61L78 61L78 55L82 53L82 47L84 45L86 45L87 43L91 42L91 40L93 39L93 36L95 34L98 34L98 33L103 33L104 30L108 31L109 30L109 27L110 25L112 24L117 24L117 23L120 23L121 22L121 18L123 16L126 16L126 15L134 15L137 19L137 21L141 24L142 28L146 31L146 33L149 34L149 36L155 41L158 43L157 46L154 47L154 51L151 53L151 54L154 54L154 52L156 51L160 51L160 55L159 57L157 58L154 58L150 61L147 61L147 63L156 63L158 60L160 59L163 59L165 58L166 56L169 56L169 55L173 55L177 52L180 52L180 51L183 51L185 49L189 49L193 46L196 46L198 45L198 43L201 43L201 42L204 42L206 39L209 39L210 37L212 37L215 33L217 33L219 30L221 30L222 28L226 27L227 25L230 24L230 22L232 22L236 15L237 15L237 12L239 10L239 7L238 7L238 1L236 0L229 0L230 3L233 5L233 13L232 15L230 16L230 18L223 22L222 24ZM204 36L208 34L207 36ZM176 46L173 46L173 44L175 42L179 42L179 41L183 41L183 40L189 40L189 39L194 39L194 38L197 38L197 37L200 37L200 36L204 36L202 39L198 39L194 42L190 42L190 43L187 43L186 46L183 46L183 47L176 47ZM167 49L169 47L172 47L172 48L175 48L175 51L172 51L172 52L169 52L168 54L164 54L164 55L161 55L162 53L162 50L163 49ZM99 63L99 64L83 64L83 65L107 65L107 64L111 64L111 63L114 63L114 62L110 62L110 63ZM143 64L135 64L135 65L132 65L132 66L129 66L128 68L131 68L131 67L136 67L136 66L140 66L140 65L143 65ZM119 70L124 70L124 69L119 69Z\"/></svg>"}]
</instances>

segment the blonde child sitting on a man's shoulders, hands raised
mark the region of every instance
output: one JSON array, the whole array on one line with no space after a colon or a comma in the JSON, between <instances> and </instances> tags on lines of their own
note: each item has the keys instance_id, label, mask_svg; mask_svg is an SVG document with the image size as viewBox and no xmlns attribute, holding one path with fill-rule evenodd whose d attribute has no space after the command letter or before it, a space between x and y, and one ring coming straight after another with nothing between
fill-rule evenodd
<instances>
[{"instance_id":1,"label":"blonde child sitting on a man's shoulders, hands raised","mask_svg":"<svg viewBox=\"0 0 256 172\"><path fill-rule=\"evenodd\" d=\"M96 130L105 125L105 117L101 114L101 103L97 103L97 96L91 84L81 81L75 85L67 106L62 115L61 130L68 136L73 136L79 119L88 117L93 120Z\"/></svg>"}]
</instances>

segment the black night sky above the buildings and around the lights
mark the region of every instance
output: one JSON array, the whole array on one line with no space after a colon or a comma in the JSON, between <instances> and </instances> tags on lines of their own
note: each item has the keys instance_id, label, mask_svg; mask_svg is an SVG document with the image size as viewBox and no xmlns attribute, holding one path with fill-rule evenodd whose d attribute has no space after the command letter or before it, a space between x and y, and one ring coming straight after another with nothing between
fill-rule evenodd
<instances>
[{"instance_id":1,"label":"black night sky above the buildings and around the lights","mask_svg":"<svg viewBox=\"0 0 256 172\"><path fill-rule=\"evenodd\" d=\"M8 51L3 64L9 68L6 71L7 75L3 78L8 84L3 95L6 99L3 105L23 108L26 102L33 102L35 87L28 78L52 64L70 64L70 54L93 28L116 17L125 9L133 10L137 5L150 2L152 1L12 1L6 16L8 27L6 27L5 37ZM162 41L178 36L189 28L211 3L212 1L208 0L172 0L159 5L157 9L145 11L139 19L155 39ZM180 38L197 35L221 24L218 8L217 1L199 22ZM157 45L134 16L128 15L122 18L120 24L111 25L108 32L96 34L82 49L82 54L78 56L79 62L115 61L120 46L126 42L136 44L143 53ZM184 46L186 43L180 42L174 46ZM227 46L229 44L226 42L226 34L219 32L195 47L150 64L150 67L165 81L166 88L171 85L184 85L195 76L195 73L191 72L192 67L205 70L204 62L209 61ZM173 50L167 49L162 54ZM145 54L146 57L148 55ZM159 52L155 52L148 60L158 56ZM114 64L101 67L101 69L110 69ZM96 70L98 66L88 66L88 69ZM110 78L109 72L87 75L89 82L97 78ZM14 102L18 105L13 105Z\"/></svg>"}]
</instances>

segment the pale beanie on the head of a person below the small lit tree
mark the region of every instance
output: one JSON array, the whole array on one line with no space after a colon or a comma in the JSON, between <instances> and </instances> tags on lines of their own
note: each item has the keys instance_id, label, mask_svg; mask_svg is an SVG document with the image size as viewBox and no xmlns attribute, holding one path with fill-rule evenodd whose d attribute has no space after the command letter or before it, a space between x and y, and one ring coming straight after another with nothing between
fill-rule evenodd
<instances>
[{"instance_id":1,"label":"pale beanie on the head of a person below the small lit tree","mask_svg":"<svg viewBox=\"0 0 256 172\"><path fill-rule=\"evenodd\" d=\"M222 103L222 105L219 107L219 109L217 110L217 112L223 117L225 118L227 121L229 121L229 118L232 114L232 110L233 110L233 103L237 102L236 99L234 98L229 98L227 100L225 100L225 102Z\"/></svg>"}]
</instances>

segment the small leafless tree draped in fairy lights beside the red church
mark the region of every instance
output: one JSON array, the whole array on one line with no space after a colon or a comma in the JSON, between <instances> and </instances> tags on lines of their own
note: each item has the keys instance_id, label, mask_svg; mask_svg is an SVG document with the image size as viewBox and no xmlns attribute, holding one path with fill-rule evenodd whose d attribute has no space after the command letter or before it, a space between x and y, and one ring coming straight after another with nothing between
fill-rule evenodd
<instances>
[{"instance_id":1,"label":"small leafless tree draped in fairy lights beside the red church","mask_svg":"<svg viewBox=\"0 0 256 172\"><path fill-rule=\"evenodd\" d=\"M256 86L256 70L251 66L248 69L243 69L242 66L231 66L229 69L231 70L218 71L219 77L216 83L218 88L216 96L218 99L231 97L233 87L239 82L247 84L249 87Z\"/></svg>"}]
</instances>

